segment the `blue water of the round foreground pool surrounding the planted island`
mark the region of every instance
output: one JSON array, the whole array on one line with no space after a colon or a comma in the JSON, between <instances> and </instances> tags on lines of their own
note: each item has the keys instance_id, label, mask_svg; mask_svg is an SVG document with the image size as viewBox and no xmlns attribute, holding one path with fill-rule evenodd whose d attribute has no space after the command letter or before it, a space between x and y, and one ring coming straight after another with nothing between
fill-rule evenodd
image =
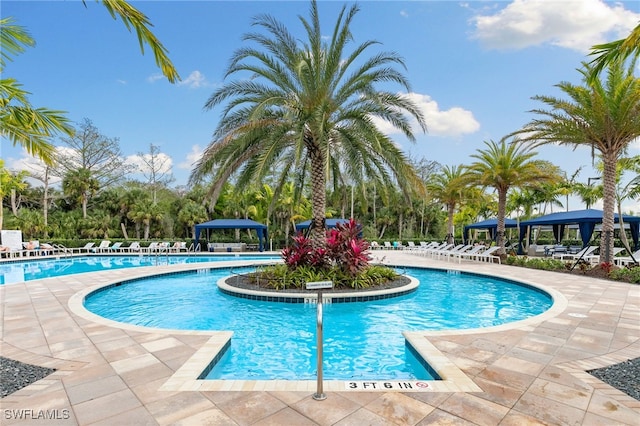
<instances>
[{"instance_id":1,"label":"blue water of the round foreground pool surrounding the planted island","mask_svg":"<svg viewBox=\"0 0 640 426\"><path fill-rule=\"evenodd\" d=\"M159 276L90 294L85 307L105 318L148 327L231 330L230 348L209 379L313 380L314 304L225 295L228 269ZM324 305L324 377L333 380L429 379L402 331L467 329L522 320L552 299L499 278L410 268L418 290L378 301Z\"/></svg>"}]
</instances>

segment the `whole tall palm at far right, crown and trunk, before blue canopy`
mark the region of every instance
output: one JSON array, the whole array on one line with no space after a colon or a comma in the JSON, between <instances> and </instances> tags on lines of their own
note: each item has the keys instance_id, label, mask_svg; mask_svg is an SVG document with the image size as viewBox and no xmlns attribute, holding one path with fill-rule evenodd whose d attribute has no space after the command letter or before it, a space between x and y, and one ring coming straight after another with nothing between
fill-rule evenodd
<instances>
[{"instance_id":1,"label":"whole tall palm at far right, crown and trunk, before blue canopy","mask_svg":"<svg viewBox=\"0 0 640 426\"><path fill-rule=\"evenodd\" d=\"M515 134L532 146L545 144L586 146L598 151L603 164L603 218L600 261L613 261L616 168L618 159L640 136L640 79L633 75L635 61L625 71L622 62L613 62L606 81L589 78L593 68L583 64L584 86L562 82L557 87L569 100L535 96L550 110L536 109L536 118Z\"/></svg>"}]
</instances>

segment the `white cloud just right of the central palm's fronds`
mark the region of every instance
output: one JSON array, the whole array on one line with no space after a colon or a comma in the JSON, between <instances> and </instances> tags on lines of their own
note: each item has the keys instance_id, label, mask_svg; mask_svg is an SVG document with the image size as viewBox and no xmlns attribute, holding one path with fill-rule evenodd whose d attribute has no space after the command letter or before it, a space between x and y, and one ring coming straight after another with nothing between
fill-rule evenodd
<instances>
[{"instance_id":1,"label":"white cloud just right of the central palm's fronds","mask_svg":"<svg viewBox=\"0 0 640 426\"><path fill-rule=\"evenodd\" d=\"M406 96L422 111L427 123L427 132L431 136L458 137L475 133L480 129L480 123L476 121L471 111L461 107L453 107L442 111L438 103L431 99L429 95L409 93ZM380 131L388 135L400 133L398 129L387 121L374 118L374 123ZM413 123L413 130L418 131L418 129L418 123Z\"/></svg>"}]
</instances>

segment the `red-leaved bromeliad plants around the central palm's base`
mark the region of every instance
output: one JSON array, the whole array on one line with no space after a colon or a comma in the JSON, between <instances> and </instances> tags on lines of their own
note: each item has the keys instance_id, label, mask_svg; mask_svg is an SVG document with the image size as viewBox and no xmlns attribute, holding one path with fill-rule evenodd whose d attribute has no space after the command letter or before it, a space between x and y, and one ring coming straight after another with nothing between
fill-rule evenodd
<instances>
[{"instance_id":1,"label":"red-leaved bromeliad plants around the central palm's base","mask_svg":"<svg viewBox=\"0 0 640 426\"><path fill-rule=\"evenodd\" d=\"M293 245L282 250L285 264L296 269L299 266L336 266L344 273L355 276L369 266L369 243L360 238L360 227L350 219L327 231L326 248L313 249L311 240L302 234L293 238Z\"/></svg>"}]
</instances>

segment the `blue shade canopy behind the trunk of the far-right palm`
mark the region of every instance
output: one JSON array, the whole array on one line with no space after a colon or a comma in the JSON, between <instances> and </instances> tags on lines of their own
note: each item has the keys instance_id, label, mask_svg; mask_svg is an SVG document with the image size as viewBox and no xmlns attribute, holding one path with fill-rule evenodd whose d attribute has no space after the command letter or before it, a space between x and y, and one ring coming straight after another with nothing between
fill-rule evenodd
<instances>
[{"instance_id":1,"label":"blue shade canopy behind the trunk of the far-right palm","mask_svg":"<svg viewBox=\"0 0 640 426\"><path fill-rule=\"evenodd\" d=\"M602 223L602 215L602 210L586 209L574 210L570 212L551 213L545 216L537 217L535 219L523 220L520 222L520 246L522 247L522 240L524 240L525 236L527 235L527 231L532 226L551 226L556 242L560 243L564 236L566 225L578 225L578 229L580 230L580 237L582 238L582 246L586 247L591 240L591 236L593 235L593 231L596 225ZM631 238L633 239L633 245L635 249L637 249L640 217L622 215L622 221L625 224L629 225L629 229L631 230ZM614 222L620 222L620 217L617 213L614 215ZM529 234L529 238L531 238L531 233Z\"/></svg>"}]
</instances>

